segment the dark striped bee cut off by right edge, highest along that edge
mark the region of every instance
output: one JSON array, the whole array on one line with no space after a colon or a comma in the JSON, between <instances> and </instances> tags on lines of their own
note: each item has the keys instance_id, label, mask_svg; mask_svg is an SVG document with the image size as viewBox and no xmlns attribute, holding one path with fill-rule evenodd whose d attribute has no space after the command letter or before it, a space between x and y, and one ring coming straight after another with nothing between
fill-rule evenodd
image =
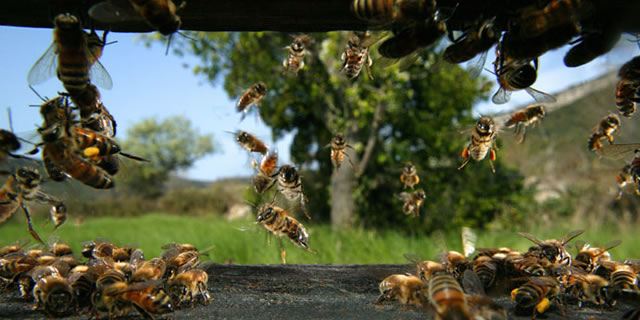
<instances>
[{"instance_id":1,"label":"dark striped bee cut off by right edge, highest along that edge","mask_svg":"<svg viewBox=\"0 0 640 320\"><path fill-rule=\"evenodd\" d=\"M623 116L629 118L636 111L636 103L640 101L640 56L625 63L618 71L616 85L616 105Z\"/></svg>"}]
</instances>

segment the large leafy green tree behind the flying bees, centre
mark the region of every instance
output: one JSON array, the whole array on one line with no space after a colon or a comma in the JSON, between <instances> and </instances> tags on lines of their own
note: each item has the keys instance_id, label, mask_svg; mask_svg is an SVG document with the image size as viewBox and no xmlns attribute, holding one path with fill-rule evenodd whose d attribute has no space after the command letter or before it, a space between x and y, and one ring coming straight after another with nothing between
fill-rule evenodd
<instances>
[{"instance_id":1,"label":"large leafy green tree behind the flying bees, centre","mask_svg":"<svg viewBox=\"0 0 640 320\"><path fill-rule=\"evenodd\" d=\"M486 98L489 86L471 79L462 68L441 61L425 50L408 70L377 68L355 80L339 72L346 33L314 34L306 67L297 77L283 75L284 49L291 37L281 33L196 33L197 41L178 45L179 53L201 58L195 72L238 98L252 84L263 81L268 93L260 114L277 139L294 132L293 162L305 170L304 184L312 215L330 212L335 228L359 221L411 228L459 225L465 219L482 224L508 211L523 193L522 177L498 161L492 175L488 164L471 163L456 170L468 135L457 133L473 123L471 108ZM355 147L348 164L335 171L324 148L336 132ZM428 194L420 219L401 213L394 198L402 187L405 161L421 170L419 187ZM486 161L485 161L486 162ZM327 218L326 214L324 215Z\"/></svg>"}]
</instances>

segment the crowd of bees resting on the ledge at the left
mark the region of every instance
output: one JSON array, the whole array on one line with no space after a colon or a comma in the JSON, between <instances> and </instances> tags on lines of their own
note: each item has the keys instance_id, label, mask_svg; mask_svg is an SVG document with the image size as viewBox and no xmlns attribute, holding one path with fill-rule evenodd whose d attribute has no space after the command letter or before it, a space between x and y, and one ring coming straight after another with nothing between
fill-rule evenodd
<instances>
[{"instance_id":1,"label":"crowd of bees resting on the ledge at the left","mask_svg":"<svg viewBox=\"0 0 640 320\"><path fill-rule=\"evenodd\" d=\"M139 314L145 319L213 301L199 251L171 243L160 257L107 240L84 244L81 262L71 247L50 238L46 247L20 240L0 249L3 289L17 289L48 317L87 313L109 319Z\"/></svg>"}]
</instances>

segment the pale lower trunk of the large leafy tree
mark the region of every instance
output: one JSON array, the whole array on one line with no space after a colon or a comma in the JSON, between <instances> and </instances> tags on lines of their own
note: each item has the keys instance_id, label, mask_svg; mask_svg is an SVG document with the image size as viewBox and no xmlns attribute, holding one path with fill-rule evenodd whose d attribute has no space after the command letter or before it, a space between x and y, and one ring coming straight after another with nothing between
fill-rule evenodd
<instances>
[{"instance_id":1,"label":"pale lower trunk of the large leafy tree","mask_svg":"<svg viewBox=\"0 0 640 320\"><path fill-rule=\"evenodd\" d=\"M347 154L355 160L353 150L347 149ZM351 227L353 223L354 174L348 159L344 159L340 170L334 168L331 174L331 227L334 230Z\"/></svg>"}]
</instances>

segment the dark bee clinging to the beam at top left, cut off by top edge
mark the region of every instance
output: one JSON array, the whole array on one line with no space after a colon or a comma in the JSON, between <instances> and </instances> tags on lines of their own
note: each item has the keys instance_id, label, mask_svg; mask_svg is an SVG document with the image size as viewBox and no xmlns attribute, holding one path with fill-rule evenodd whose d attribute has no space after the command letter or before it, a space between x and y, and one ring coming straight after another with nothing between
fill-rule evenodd
<instances>
[{"instance_id":1,"label":"dark bee clinging to the beam at top left, cut off by top edge","mask_svg":"<svg viewBox=\"0 0 640 320\"><path fill-rule=\"evenodd\" d=\"M89 9L91 18L103 23L144 20L165 36L180 30L182 19L176 14L186 2L176 6L172 0L111 0Z\"/></svg>"}]
</instances>

